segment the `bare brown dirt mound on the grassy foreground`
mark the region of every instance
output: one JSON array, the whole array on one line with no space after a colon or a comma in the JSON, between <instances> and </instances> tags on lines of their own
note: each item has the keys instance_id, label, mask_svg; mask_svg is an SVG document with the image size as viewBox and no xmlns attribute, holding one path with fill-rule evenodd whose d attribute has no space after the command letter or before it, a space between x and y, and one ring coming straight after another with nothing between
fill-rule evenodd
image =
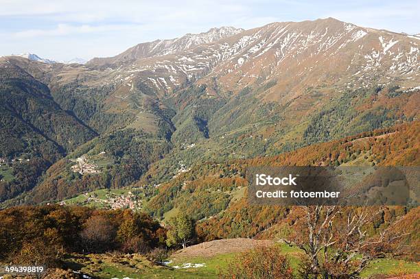
<instances>
[{"instance_id":1,"label":"bare brown dirt mound on the grassy foreground","mask_svg":"<svg viewBox=\"0 0 420 279\"><path fill-rule=\"evenodd\" d=\"M175 252L174 258L192 258L196 256L211 257L219 254L244 252L255 247L267 247L273 245L270 240L255 239L220 239L189 246L183 250Z\"/></svg>"}]
</instances>

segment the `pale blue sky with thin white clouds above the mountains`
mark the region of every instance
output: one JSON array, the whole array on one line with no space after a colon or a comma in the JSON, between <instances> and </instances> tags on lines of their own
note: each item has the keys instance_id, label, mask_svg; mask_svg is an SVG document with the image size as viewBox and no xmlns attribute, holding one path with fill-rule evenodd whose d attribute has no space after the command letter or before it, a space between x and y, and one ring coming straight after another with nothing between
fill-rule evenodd
<instances>
[{"instance_id":1,"label":"pale blue sky with thin white clouds above the mountains","mask_svg":"<svg viewBox=\"0 0 420 279\"><path fill-rule=\"evenodd\" d=\"M419 14L419 0L0 0L0 56L30 52L58 61L89 60L211 27L250 29L329 16L419 34Z\"/></svg>"}]
</instances>

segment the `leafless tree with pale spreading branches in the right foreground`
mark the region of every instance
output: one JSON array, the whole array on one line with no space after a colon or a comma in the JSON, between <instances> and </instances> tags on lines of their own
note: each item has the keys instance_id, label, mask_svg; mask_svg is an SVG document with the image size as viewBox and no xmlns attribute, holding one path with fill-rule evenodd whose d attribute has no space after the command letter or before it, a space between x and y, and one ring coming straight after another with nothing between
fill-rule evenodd
<instances>
[{"instance_id":1,"label":"leafless tree with pale spreading branches in the right foreground","mask_svg":"<svg viewBox=\"0 0 420 279\"><path fill-rule=\"evenodd\" d=\"M382 207L296 206L296 210L300 218L295 230L283 241L305 252L304 278L357 278L373 258L390 252L404 235L391 232L390 226L368 233L366 227L382 215Z\"/></svg>"}]
</instances>

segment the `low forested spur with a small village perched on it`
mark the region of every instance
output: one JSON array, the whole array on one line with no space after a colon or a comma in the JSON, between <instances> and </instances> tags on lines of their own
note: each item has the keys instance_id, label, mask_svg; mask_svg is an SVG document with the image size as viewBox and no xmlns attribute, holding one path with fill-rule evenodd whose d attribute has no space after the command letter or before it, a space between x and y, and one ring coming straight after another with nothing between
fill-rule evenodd
<instances>
[{"instance_id":1,"label":"low forested spur with a small village perched on it","mask_svg":"<svg viewBox=\"0 0 420 279\"><path fill-rule=\"evenodd\" d=\"M129 186L141 178L152 162L163 158L170 147L165 140L132 130L100 136L50 167L25 199L42 203L95 189ZM86 161L80 161L82 158Z\"/></svg>"}]
</instances>

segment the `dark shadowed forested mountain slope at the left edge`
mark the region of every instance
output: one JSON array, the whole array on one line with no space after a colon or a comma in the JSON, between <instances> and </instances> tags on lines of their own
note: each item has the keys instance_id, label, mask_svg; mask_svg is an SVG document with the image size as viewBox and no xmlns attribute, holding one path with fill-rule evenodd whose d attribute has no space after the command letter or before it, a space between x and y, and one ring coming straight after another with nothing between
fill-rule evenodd
<instances>
[{"instance_id":1,"label":"dark shadowed forested mountain slope at the left edge","mask_svg":"<svg viewBox=\"0 0 420 279\"><path fill-rule=\"evenodd\" d=\"M0 181L0 201L32 189L49 165L96 136L45 84L7 60L0 60L0 117L1 173L10 173Z\"/></svg>"}]
</instances>

